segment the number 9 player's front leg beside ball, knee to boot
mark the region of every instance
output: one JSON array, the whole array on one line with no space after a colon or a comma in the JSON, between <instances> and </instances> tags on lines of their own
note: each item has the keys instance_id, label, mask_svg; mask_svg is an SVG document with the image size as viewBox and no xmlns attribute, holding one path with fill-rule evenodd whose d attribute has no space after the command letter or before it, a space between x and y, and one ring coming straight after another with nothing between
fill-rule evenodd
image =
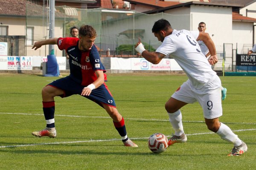
<instances>
[{"instance_id":1,"label":"number 9 player's front leg beside ball, knee to boot","mask_svg":"<svg viewBox=\"0 0 256 170\"><path fill-rule=\"evenodd\" d=\"M187 103L172 97L166 102L165 108L169 115L169 122L172 124L172 127L175 130L175 134L172 134L172 137L168 140L169 146L175 143L184 143L187 141L183 130L182 115L180 112L180 108L186 104Z\"/></svg>"}]
</instances>

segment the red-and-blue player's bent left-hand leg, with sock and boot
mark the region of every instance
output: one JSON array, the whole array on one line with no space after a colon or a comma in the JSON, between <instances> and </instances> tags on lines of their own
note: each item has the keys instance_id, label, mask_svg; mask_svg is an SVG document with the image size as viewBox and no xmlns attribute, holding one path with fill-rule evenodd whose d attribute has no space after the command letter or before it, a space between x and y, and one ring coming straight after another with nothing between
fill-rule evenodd
<instances>
[{"instance_id":1,"label":"red-and-blue player's bent left-hand leg, with sock and boot","mask_svg":"<svg viewBox=\"0 0 256 170\"><path fill-rule=\"evenodd\" d=\"M56 137L55 121L54 121L54 112L55 112L55 103L54 97L61 96L64 92L61 89L54 88L52 86L45 86L42 89L42 99L43 99L43 110L44 117L46 119L47 125L46 128L40 131L32 132L32 135L42 137L49 136L50 138Z\"/></svg>"}]
</instances>

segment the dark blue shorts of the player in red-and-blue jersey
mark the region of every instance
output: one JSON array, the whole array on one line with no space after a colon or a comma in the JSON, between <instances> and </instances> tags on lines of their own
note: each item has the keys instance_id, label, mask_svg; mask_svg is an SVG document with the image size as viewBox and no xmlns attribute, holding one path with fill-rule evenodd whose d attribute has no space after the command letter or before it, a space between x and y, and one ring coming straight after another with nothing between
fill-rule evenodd
<instances>
[{"instance_id":1,"label":"dark blue shorts of the player in red-and-blue jersey","mask_svg":"<svg viewBox=\"0 0 256 170\"><path fill-rule=\"evenodd\" d=\"M86 86L82 86L78 82L75 82L69 76L61 79L57 79L48 85L63 90L64 95L61 96L62 98L71 96L73 94L81 95L83 88L86 87ZM105 83L99 86L98 88L93 89L89 96L83 96L83 97L86 97L87 99L90 99L91 101L96 102L102 108L103 108L102 104L106 104L116 108L115 100L113 99L112 94L108 90L108 86Z\"/></svg>"}]
</instances>

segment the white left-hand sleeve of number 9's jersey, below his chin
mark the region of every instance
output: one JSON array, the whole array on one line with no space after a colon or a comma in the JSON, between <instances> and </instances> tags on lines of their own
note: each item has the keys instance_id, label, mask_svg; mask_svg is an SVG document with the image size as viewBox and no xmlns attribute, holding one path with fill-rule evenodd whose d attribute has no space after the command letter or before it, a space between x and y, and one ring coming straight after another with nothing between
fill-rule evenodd
<instances>
[{"instance_id":1,"label":"white left-hand sleeve of number 9's jersey, below his chin","mask_svg":"<svg viewBox=\"0 0 256 170\"><path fill-rule=\"evenodd\" d=\"M166 56L175 51L176 51L176 46L170 37L165 37L162 45L160 45L156 50L156 52L162 53Z\"/></svg>"}]
</instances>

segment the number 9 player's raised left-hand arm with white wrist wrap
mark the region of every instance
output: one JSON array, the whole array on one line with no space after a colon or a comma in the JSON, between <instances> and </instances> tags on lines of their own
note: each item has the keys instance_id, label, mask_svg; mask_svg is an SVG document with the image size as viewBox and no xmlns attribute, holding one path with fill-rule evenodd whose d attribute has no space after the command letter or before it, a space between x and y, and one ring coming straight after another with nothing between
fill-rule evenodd
<instances>
[{"instance_id":1,"label":"number 9 player's raised left-hand arm with white wrist wrap","mask_svg":"<svg viewBox=\"0 0 256 170\"><path fill-rule=\"evenodd\" d=\"M165 57L164 54L158 53L158 52L149 52L144 48L144 45L141 43L141 40L139 38L139 41L135 45L135 50L139 52L142 57L144 57L146 60L153 64L158 64L163 57Z\"/></svg>"}]
</instances>

